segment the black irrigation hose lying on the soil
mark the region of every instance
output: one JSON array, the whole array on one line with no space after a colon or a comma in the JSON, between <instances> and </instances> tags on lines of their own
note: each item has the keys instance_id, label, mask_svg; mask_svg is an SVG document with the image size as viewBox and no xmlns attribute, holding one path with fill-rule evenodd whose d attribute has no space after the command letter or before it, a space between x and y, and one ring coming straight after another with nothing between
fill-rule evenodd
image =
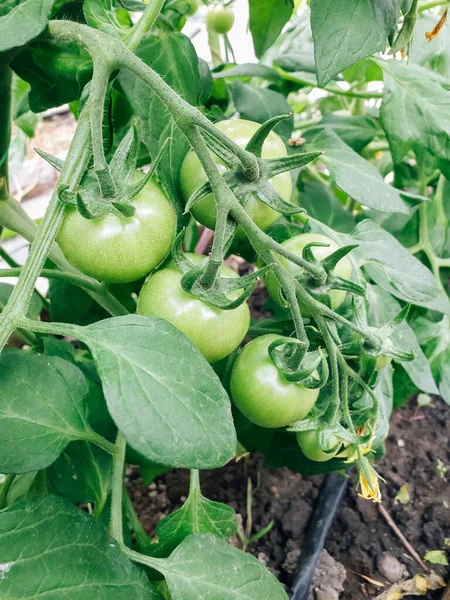
<instances>
[{"instance_id":1,"label":"black irrigation hose lying on the soil","mask_svg":"<svg viewBox=\"0 0 450 600\"><path fill-rule=\"evenodd\" d=\"M308 523L305 543L298 563L298 572L292 587L291 600L308 600L317 562L347 482L348 477L342 476L340 473L329 473L326 476L317 506Z\"/></svg>"}]
</instances>

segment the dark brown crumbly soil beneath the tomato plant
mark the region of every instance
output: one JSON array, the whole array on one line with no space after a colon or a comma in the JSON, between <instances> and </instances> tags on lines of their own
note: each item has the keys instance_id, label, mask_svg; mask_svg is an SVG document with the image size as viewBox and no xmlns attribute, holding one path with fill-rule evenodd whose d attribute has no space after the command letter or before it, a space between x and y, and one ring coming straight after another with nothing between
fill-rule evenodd
<instances>
[{"instance_id":1,"label":"dark brown crumbly soil beneath the tomato plant","mask_svg":"<svg viewBox=\"0 0 450 600\"><path fill-rule=\"evenodd\" d=\"M421 408L418 413L415 402L397 411L387 440L386 458L378 463L378 470L386 480L382 485L383 506L422 557L428 550L445 549L450 543L450 470L446 471L450 465L448 411L449 407L441 400L436 400L433 407ZM438 459L442 463L438 463ZM252 544L249 551L290 586L305 527L323 478L302 477L287 469L269 471L259 456L248 464L240 462L203 472L203 494L232 506L241 515L244 525L247 476L255 486L253 531L274 521L270 533ZM129 491L148 533L154 534L158 521L184 501L188 478L187 471L177 470L144 487L138 470L130 474ZM395 501L395 496L405 484L411 499L408 504L401 504ZM359 498L353 483L348 486L325 547L347 569L341 600L373 598L382 591L360 575L389 586L378 570L379 561L386 553L398 559L411 575L421 571L379 514L377 505ZM430 566L445 576L445 568ZM440 595L441 592L437 592L428 598L437 599Z\"/></svg>"}]
</instances>

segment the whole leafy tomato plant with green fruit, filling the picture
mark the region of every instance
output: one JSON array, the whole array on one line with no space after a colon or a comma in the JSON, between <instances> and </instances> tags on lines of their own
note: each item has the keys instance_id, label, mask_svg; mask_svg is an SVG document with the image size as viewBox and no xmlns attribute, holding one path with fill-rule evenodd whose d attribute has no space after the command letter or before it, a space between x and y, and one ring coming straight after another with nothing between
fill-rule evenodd
<instances>
[{"instance_id":1,"label":"whole leafy tomato plant with green fruit, filling the picture","mask_svg":"<svg viewBox=\"0 0 450 600\"><path fill-rule=\"evenodd\" d=\"M201 492L254 450L380 500L393 409L450 404L447 4L249 0L244 62L237 3L0 0L0 597L286 599ZM190 471L153 538L133 462Z\"/></svg>"}]
</instances>

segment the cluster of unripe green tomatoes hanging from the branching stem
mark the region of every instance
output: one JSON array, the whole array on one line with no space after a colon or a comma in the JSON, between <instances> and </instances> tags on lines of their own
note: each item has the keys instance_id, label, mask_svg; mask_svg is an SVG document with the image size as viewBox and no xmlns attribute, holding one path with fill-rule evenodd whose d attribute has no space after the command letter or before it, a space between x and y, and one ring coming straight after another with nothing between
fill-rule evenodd
<instances>
[{"instance_id":1,"label":"cluster of unripe green tomatoes hanging from the branching stem","mask_svg":"<svg viewBox=\"0 0 450 600\"><path fill-rule=\"evenodd\" d=\"M195 0L192 1L192 8L194 3ZM208 13L208 26L225 33L234 19L230 12L224 7L214 8ZM228 120L218 123L217 127L241 148L245 148L259 124ZM264 143L262 157L279 158L286 155L283 141L271 132ZM218 157L215 157L215 161L224 172L224 163ZM187 202L206 181L200 161L191 150L181 168L184 200ZM271 184L280 196L290 201L292 180L289 173L276 175ZM150 182L132 203L135 208L132 217L109 212L101 218L88 220L75 208L68 208L58 235L58 243L67 260L86 275L103 282L125 283L148 276L139 294L137 312L166 319L175 325L211 363L227 357L242 343L248 332L250 311L247 303L232 310L221 310L186 293L180 283L182 273L174 261L158 268L169 255L176 233L176 214L169 199L157 183ZM245 205L245 210L261 229L267 229L280 216L255 198ZM212 194L196 203L191 212L200 224L215 228L216 205ZM238 228L237 235L243 236L244 233ZM311 242L327 244L313 248L318 261L337 249L332 240L315 233L295 236L285 241L283 246L293 254L302 256L305 245ZM194 265L205 258L197 254L188 254L187 257ZM301 267L281 256L279 260L293 276L302 274ZM339 261L335 272L343 278L349 278L351 270L351 263L345 257ZM225 265L220 275L239 277ZM266 276L265 283L270 297L280 303L280 284L272 272ZM240 293L232 292L228 296L233 300ZM332 307L337 308L344 301L345 292L331 290L330 297ZM304 316L309 316L305 306L300 305L300 308ZM268 349L278 337L263 335L249 342L236 358L231 372L230 387L235 405L251 422L266 428L286 427L303 419L310 413L319 395L318 389L287 381L275 366ZM381 362L379 366L383 366ZM333 458L339 448L336 440L335 448L322 449L314 430L299 432L297 440L304 455L318 462Z\"/></svg>"}]
</instances>

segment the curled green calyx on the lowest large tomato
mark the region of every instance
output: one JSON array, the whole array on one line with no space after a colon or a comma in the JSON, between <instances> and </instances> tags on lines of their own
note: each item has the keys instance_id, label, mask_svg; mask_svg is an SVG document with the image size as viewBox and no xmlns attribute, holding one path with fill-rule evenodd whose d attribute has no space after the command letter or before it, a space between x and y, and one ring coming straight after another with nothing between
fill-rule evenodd
<instances>
[{"instance_id":1,"label":"curled green calyx on the lowest large tomato","mask_svg":"<svg viewBox=\"0 0 450 600\"><path fill-rule=\"evenodd\" d=\"M328 362L320 348L313 352L307 350L307 344L297 338L280 337L270 344L268 353L286 381L319 389L328 381Z\"/></svg>"}]
</instances>

